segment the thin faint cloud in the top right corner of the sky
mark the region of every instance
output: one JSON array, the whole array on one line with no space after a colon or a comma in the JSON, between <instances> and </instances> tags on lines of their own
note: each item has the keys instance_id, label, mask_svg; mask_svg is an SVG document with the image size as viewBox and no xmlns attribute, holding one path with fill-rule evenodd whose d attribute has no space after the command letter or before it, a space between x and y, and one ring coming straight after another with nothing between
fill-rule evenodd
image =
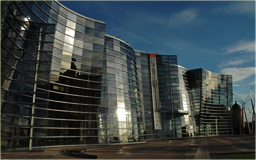
<instances>
[{"instance_id":1,"label":"thin faint cloud in the top right corner of the sky","mask_svg":"<svg viewBox=\"0 0 256 160\"><path fill-rule=\"evenodd\" d=\"M255 16L255 1L233 2L227 6L213 8L212 14Z\"/></svg>"}]
</instances>

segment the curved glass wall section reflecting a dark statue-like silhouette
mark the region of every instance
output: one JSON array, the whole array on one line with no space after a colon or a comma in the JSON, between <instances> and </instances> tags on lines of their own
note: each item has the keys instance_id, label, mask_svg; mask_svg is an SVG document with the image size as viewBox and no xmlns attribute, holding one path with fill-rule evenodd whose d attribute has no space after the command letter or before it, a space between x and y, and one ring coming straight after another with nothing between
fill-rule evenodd
<instances>
[{"instance_id":1,"label":"curved glass wall section reflecting a dark statue-like silhouette","mask_svg":"<svg viewBox=\"0 0 256 160\"><path fill-rule=\"evenodd\" d=\"M56 27L45 146L98 144L106 24L49 3Z\"/></svg>"}]
</instances>

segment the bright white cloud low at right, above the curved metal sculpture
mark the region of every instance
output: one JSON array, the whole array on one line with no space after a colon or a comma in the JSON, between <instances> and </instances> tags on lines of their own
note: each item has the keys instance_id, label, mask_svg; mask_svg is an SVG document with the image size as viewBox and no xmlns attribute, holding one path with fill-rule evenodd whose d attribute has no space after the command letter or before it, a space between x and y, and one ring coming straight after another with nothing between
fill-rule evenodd
<instances>
[{"instance_id":1,"label":"bright white cloud low at right, above the curved metal sculpture","mask_svg":"<svg viewBox=\"0 0 256 160\"><path fill-rule=\"evenodd\" d=\"M233 82L242 81L255 74L255 67L248 68L224 68L220 70L221 74L232 75Z\"/></svg>"}]
</instances>

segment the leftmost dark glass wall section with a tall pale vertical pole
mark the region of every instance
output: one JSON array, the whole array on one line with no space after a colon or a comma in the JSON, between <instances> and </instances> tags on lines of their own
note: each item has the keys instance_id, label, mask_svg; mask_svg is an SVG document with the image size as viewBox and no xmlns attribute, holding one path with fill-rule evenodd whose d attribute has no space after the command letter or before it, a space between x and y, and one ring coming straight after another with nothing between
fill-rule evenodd
<instances>
[{"instance_id":1,"label":"leftmost dark glass wall section with a tall pale vertical pole","mask_svg":"<svg viewBox=\"0 0 256 160\"><path fill-rule=\"evenodd\" d=\"M50 7L1 5L1 151L44 150L55 31L45 13Z\"/></svg>"}]
</instances>

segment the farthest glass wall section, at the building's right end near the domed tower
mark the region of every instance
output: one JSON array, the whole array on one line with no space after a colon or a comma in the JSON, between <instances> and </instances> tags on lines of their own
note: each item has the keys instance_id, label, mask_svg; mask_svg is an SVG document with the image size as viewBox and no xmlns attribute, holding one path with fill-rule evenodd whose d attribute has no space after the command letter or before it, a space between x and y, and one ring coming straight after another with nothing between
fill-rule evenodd
<instances>
[{"instance_id":1,"label":"farthest glass wall section, at the building's right end near the domed tower","mask_svg":"<svg viewBox=\"0 0 256 160\"><path fill-rule=\"evenodd\" d=\"M194 115L198 134L233 134L232 76L211 73L203 68L191 70L196 76Z\"/></svg>"}]
</instances>

